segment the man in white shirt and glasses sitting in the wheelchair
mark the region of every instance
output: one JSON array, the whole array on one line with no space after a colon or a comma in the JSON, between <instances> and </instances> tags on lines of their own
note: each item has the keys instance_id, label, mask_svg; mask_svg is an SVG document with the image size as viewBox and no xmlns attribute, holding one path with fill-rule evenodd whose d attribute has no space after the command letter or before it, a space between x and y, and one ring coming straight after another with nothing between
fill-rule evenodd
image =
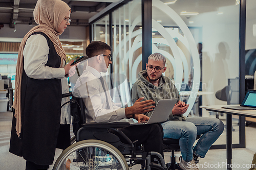
<instances>
[{"instance_id":1,"label":"man in white shirt and glasses sitting in the wheelchair","mask_svg":"<svg viewBox=\"0 0 256 170\"><path fill-rule=\"evenodd\" d=\"M101 41L93 41L86 48L89 57L88 65L77 80L74 92L78 93L86 106L87 123L116 122L123 118L135 118L140 121L149 117L142 113L152 111L152 100L140 102L138 99L133 106L120 108L111 99L105 80L100 72L106 72L111 61L111 47ZM101 80L100 80L101 79ZM103 82L102 82L103 81ZM121 129L132 141L138 140L136 145L144 144L146 152L155 151L163 156L163 130L160 124L129 126Z\"/></svg>"}]
</instances>

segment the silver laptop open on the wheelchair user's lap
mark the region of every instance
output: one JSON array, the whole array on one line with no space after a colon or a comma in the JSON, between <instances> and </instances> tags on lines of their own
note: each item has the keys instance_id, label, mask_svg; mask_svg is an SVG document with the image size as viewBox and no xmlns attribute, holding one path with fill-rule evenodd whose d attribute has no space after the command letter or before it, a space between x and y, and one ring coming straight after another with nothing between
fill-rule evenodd
<instances>
[{"instance_id":1,"label":"silver laptop open on the wheelchair user's lap","mask_svg":"<svg viewBox=\"0 0 256 170\"><path fill-rule=\"evenodd\" d=\"M168 119L170 112L172 112L176 102L177 102L177 99L159 100L148 121L140 122L140 123L137 122L134 124L132 123L131 125L146 125L146 124L165 122Z\"/></svg>"}]
</instances>

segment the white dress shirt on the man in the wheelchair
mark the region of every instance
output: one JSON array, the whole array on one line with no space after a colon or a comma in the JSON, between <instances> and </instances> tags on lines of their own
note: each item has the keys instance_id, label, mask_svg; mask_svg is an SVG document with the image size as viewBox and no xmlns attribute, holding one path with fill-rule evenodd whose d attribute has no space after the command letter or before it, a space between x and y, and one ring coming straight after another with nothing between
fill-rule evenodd
<instances>
[{"instance_id":1,"label":"white dress shirt on the man in the wheelchair","mask_svg":"<svg viewBox=\"0 0 256 170\"><path fill-rule=\"evenodd\" d=\"M106 96L99 80L100 73L93 67L87 66L74 86L74 92L83 98L86 105L87 123L116 122L125 118L124 108L115 105L111 99L109 90L106 91L110 109L106 109ZM104 80L105 88L108 85Z\"/></svg>"}]
</instances>

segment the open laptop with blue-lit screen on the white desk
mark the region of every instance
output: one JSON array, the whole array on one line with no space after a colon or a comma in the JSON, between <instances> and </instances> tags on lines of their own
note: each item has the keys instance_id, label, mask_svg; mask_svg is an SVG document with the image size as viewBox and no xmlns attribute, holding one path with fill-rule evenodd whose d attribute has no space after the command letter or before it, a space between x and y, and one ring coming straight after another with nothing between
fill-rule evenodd
<instances>
[{"instance_id":1,"label":"open laptop with blue-lit screen on the white desk","mask_svg":"<svg viewBox=\"0 0 256 170\"><path fill-rule=\"evenodd\" d=\"M240 106L221 106L225 109L256 110L256 90L248 90Z\"/></svg>"}]
</instances>

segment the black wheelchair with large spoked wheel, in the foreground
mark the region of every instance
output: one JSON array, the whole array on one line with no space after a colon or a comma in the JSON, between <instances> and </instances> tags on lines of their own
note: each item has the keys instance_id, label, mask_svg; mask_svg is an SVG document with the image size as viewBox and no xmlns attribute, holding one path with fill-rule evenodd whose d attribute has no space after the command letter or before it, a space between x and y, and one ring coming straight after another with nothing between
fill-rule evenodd
<instances>
[{"instance_id":1,"label":"black wheelchair with large spoked wheel, in the foreground","mask_svg":"<svg viewBox=\"0 0 256 170\"><path fill-rule=\"evenodd\" d=\"M72 95L72 93L66 95ZM74 144L60 154L53 170L127 170L135 164L140 164L142 170L167 169L164 159L159 153L144 152L143 145L136 147L137 140L131 141L122 131L118 130L130 126L129 122L84 123L86 114L82 99L72 95L70 103L71 110L73 110L75 134L75 139L71 139L71 143ZM158 163L151 162L152 156L154 156L154 160L155 157L159 158L156 161Z\"/></svg>"}]
</instances>

